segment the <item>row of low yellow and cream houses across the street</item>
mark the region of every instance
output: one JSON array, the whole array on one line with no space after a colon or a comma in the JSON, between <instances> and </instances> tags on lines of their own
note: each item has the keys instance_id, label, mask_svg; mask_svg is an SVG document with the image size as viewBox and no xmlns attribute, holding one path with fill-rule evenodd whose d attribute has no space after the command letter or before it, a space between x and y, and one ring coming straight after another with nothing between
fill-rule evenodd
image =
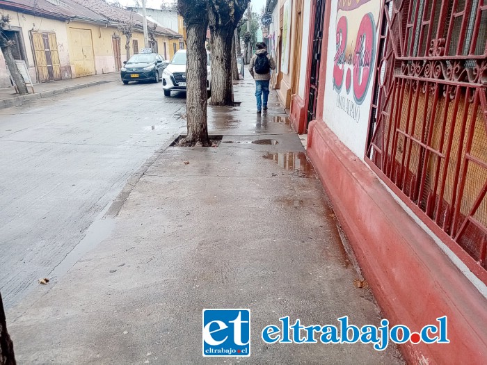
<instances>
[{"instance_id":1,"label":"row of low yellow and cream houses across the street","mask_svg":"<svg viewBox=\"0 0 487 365\"><path fill-rule=\"evenodd\" d=\"M102 0L0 0L0 13L10 17L4 33L14 40L15 60L23 60L33 83L118 72L124 60L144 47L142 17ZM131 38L122 24L131 24ZM183 35L148 22L150 47L171 58L184 47ZM175 29L179 22L176 18ZM128 45L128 47L126 47ZM0 88L10 87L0 54Z\"/></svg>"}]
</instances>

